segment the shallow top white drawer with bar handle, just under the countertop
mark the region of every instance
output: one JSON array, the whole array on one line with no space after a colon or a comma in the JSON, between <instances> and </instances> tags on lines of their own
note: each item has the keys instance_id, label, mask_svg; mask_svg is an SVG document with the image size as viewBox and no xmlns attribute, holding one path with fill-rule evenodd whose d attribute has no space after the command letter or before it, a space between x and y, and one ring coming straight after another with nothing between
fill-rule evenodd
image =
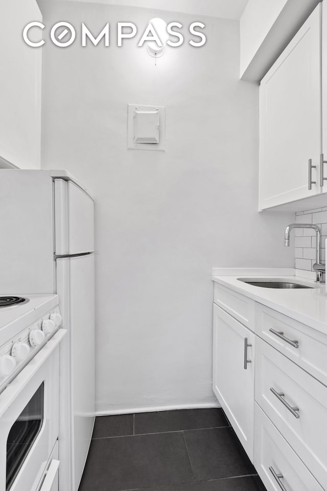
<instances>
[{"instance_id":1,"label":"shallow top white drawer with bar handle, just under the countertop","mask_svg":"<svg viewBox=\"0 0 327 491\"><path fill-rule=\"evenodd\" d=\"M258 303L255 304L255 333L327 386L325 334ZM294 346L293 341L298 343Z\"/></svg>"}]
</instances>

